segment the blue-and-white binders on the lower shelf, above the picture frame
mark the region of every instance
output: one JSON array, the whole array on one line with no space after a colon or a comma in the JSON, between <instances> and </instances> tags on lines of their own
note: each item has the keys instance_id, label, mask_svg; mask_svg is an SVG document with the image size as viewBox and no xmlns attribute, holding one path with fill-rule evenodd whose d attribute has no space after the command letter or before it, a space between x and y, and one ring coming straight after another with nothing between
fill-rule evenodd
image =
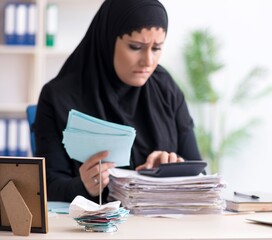
<instances>
[{"instance_id":1,"label":"blue-and-white binders on the lower shelf, above the picture frame","mask_svg":"<svg viewBox=\"0 0 272 240\"><path fill-rule=\"evenodd\" d=\"M0 156L26 157L29 152L29 126L26 119L0 119Z\"/></svg>"}]
</instances>

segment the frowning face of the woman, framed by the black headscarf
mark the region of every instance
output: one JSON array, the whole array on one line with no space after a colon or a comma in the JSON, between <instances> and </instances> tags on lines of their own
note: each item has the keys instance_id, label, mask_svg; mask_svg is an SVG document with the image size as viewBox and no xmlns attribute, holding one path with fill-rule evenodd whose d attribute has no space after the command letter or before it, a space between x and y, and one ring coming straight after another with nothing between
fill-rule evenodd
<instances>
[{"instance_id":1,"label":"frowning face of the woman, framed by the black headscarf","mask_svg":"<svg viewBox=\"0 0 272 240\"><path fill-rule=\"evenodd\" d=\"M130 86L143 86L158 65L165 37L162 28L144 28L118 37L113 64L120 80Z\"/></svg>"}]
</instances>

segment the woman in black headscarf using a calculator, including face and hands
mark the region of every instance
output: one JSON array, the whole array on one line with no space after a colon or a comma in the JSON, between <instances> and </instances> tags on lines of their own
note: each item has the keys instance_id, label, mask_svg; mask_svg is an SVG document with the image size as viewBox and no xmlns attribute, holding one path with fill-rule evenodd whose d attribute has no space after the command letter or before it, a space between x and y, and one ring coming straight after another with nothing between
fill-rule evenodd
<instances>
[{"instance_id":1,"label":"woman in black headscarf using a calculator, including face and hands","mask_svg":"<svg viewBox=\"0 0 272 240\"><path fill-rule=\"evenodd\" d=\"M46 158L48 200L82 195L98 202L99 160L81 165L62 145L68 112L75 109L136 129L131 169L201 159L184 95L158 61L168 18L157 0L106 0L55 79L42 89L35 123L36 155ZM104 201L109 182L102 164Z\"/></svg>"}]
</instances>

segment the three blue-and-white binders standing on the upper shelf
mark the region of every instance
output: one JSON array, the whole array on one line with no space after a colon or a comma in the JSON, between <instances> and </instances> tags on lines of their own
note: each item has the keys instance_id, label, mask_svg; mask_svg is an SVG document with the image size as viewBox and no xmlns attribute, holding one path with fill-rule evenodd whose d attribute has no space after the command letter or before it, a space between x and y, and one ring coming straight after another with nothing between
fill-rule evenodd
<instances>
[{"instance_id":1,"label":"three blue-and-white binders standing on the upper shelf","mask_svg":"<svg viewBox=\"0 0 272 240\"><path fill-rule=\"evenodd\" d=\"M35 45L36 4L10 2L5 5L4 39L7 45Z\"/></svg>"}]
</instances>

